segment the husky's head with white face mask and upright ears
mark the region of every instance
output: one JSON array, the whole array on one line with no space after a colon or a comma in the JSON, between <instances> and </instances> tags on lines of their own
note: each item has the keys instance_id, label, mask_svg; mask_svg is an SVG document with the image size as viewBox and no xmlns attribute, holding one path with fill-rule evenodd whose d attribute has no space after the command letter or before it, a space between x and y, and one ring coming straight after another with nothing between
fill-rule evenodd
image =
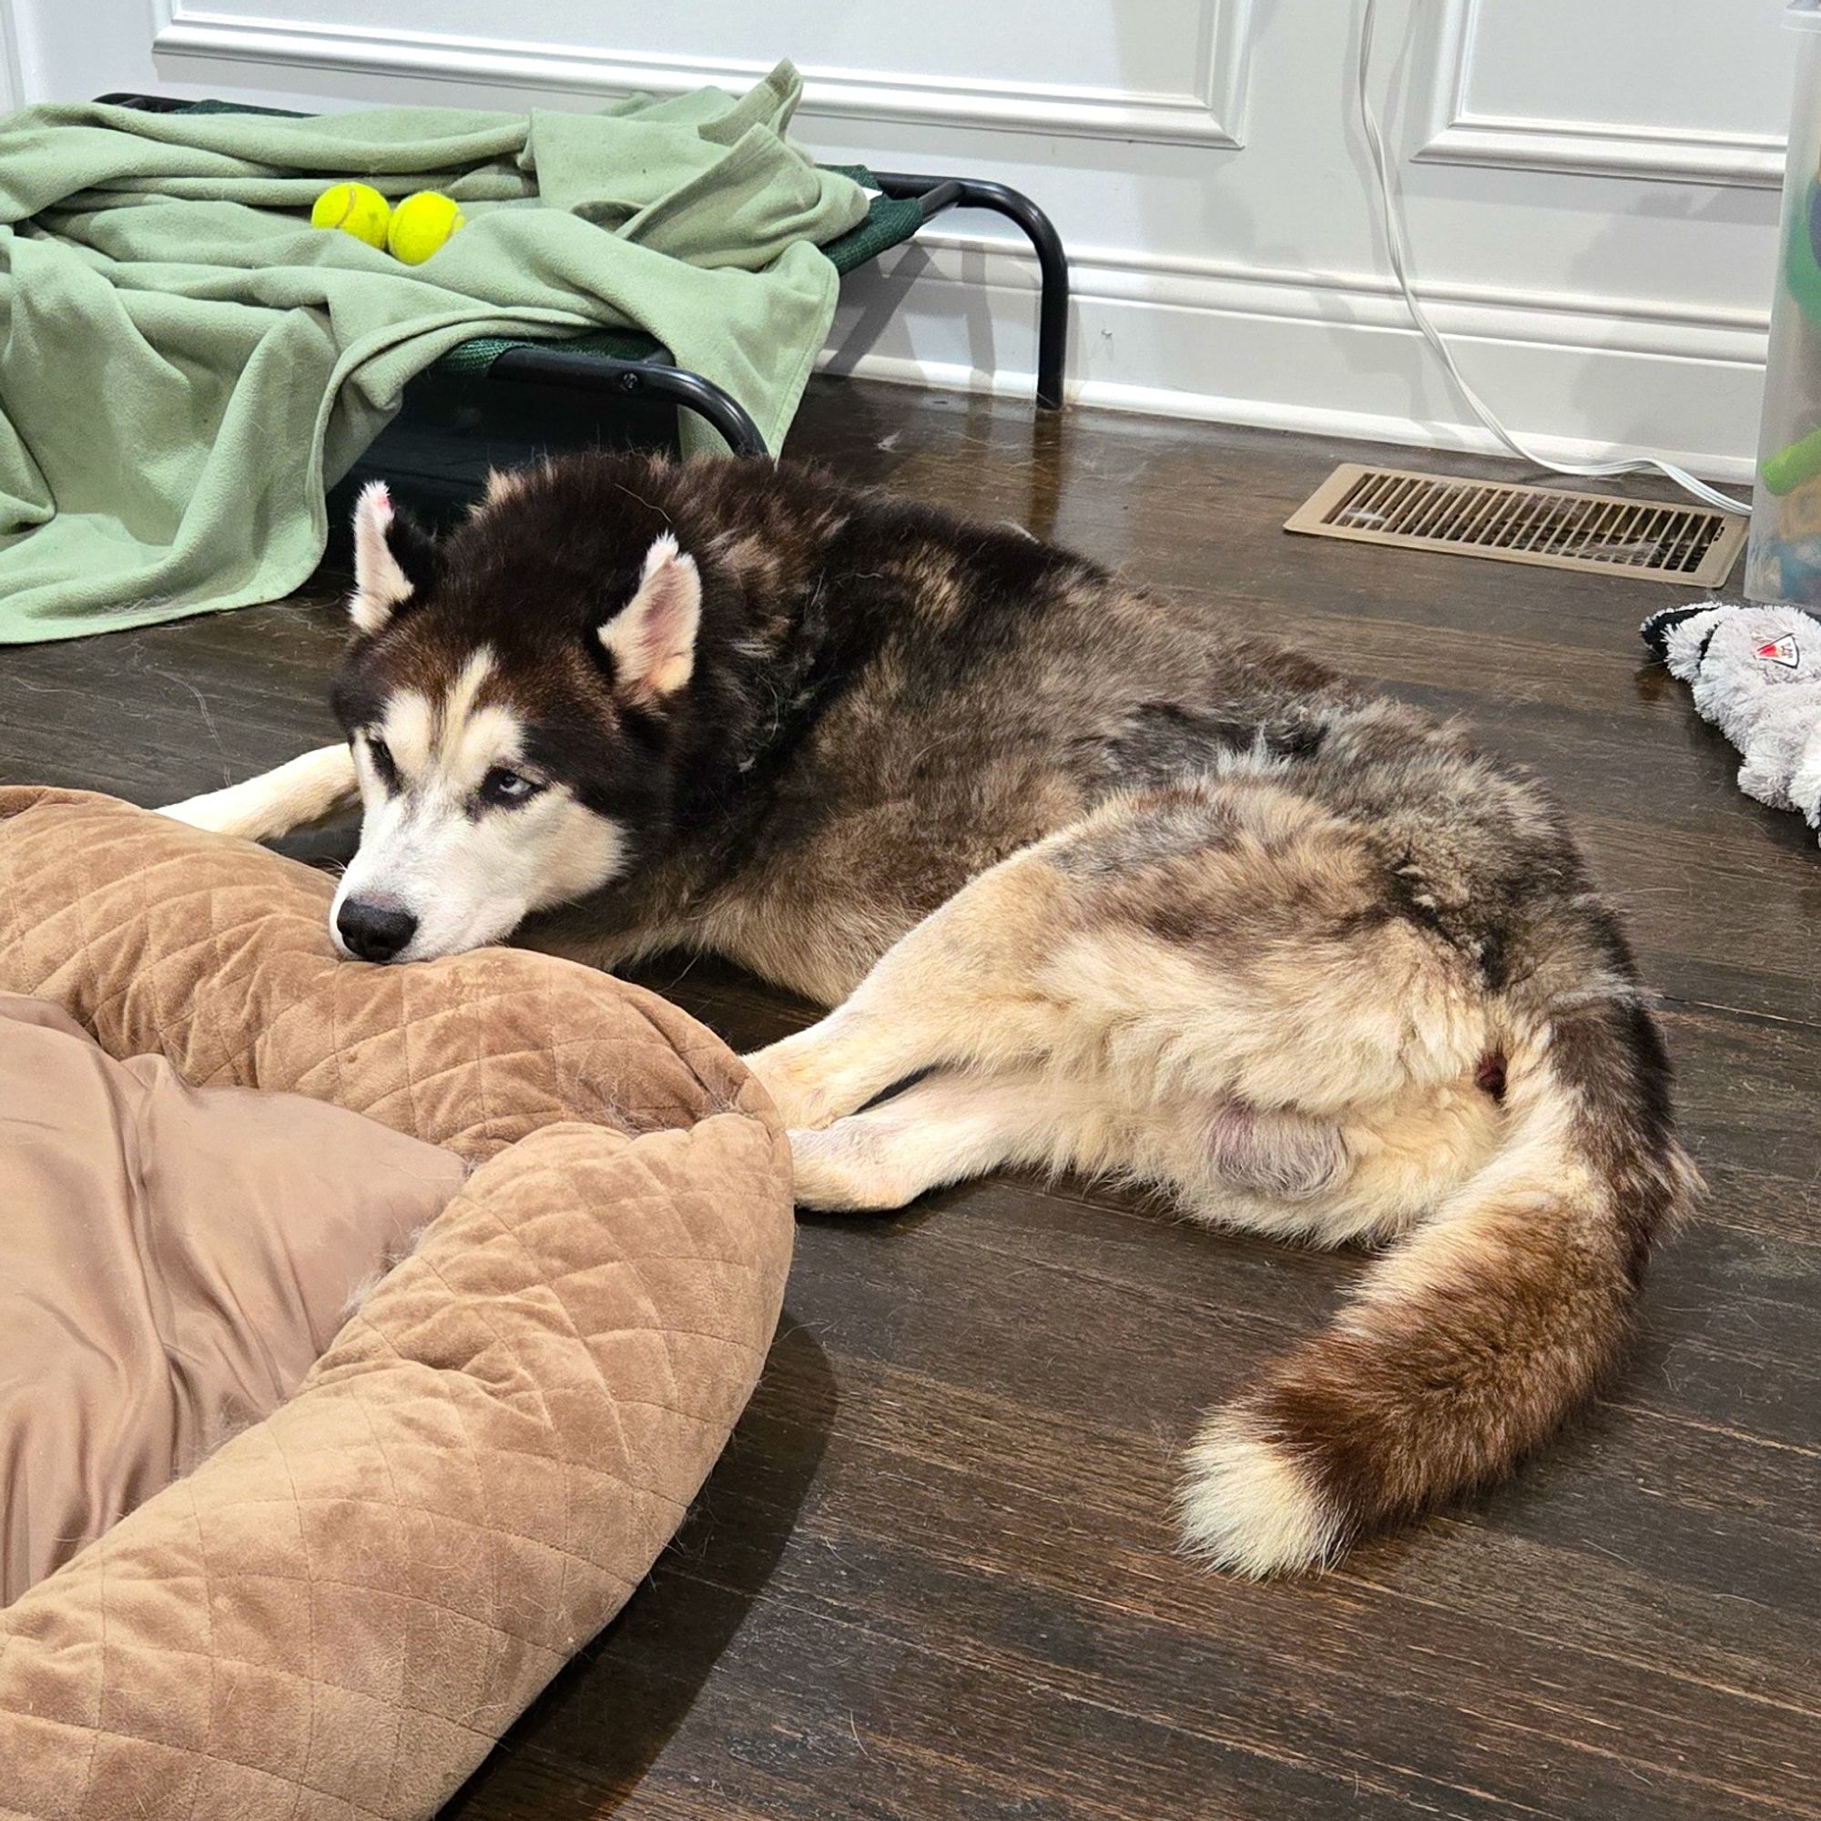
<instances>
[{"instance_id":1,"label":"husky's head with white face mask and upright ears","mask_svg":"<svg viewBox=\"0 0 1821 1821\"><path fill-rule=\"evenodd\" d=\"M666 823L701 574L661 514L575 492L557 470L495 479L443 539L361 493L333 690L364 805L330 912L346 954L499 941Z\"/></svg>"}]
</instances>

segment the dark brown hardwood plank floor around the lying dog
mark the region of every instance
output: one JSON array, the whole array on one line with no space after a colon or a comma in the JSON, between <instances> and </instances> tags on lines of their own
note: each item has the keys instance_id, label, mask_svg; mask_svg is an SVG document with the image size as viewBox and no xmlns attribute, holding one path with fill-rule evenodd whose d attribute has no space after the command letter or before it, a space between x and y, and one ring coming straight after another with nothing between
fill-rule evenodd
<instances>
[{"instance_id":1,"label":"dark brown hardwood plank floor around the lying dog","mask_svg":"<svg viewBox=\"0 0 1821 1821\"><path fill-rule=\"evenodd\" d=\"M794 448L1218 595L1533 765L1630 914L1712 1196L1572 1435L1262 1588L1175 1553L1175 1460L1357 1256L1022 1180L807 1218L697 1508L450 1821L1821 1817L1821 852L1641 663L1679 597L1284 535L1355 446L823 381ZM5 650L0 779L169 801L331 738L330 594ZM803 1016L646 978L738 1045Z\"/></svg>"}]
</instances>

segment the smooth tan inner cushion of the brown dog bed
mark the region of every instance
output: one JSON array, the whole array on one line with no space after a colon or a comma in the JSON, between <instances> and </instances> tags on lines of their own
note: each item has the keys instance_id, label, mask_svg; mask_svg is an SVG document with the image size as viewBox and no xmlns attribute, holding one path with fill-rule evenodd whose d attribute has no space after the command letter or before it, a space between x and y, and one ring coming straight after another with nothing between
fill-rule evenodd
<instances>
[{"instance_id":1,"label":"smooth tan inner cushion of the brown dog bed","mask_svg":"<svg viewBox=\"0 0 1821 1821\"><path fill-rule=\"evenodd\" d=\"M464 1176L0 992L0 1604L277 1409Z\"/></svg>"}]
</instances>

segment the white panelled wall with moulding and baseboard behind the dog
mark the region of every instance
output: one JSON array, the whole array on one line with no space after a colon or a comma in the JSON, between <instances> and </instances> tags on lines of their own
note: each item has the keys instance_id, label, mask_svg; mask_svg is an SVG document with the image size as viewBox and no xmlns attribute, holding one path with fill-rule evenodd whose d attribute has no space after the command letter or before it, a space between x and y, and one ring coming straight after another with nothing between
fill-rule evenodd
<instances>
[{"instance_id":1,"label":"white panelled wall with moulding and baseboard behind the dog","mask_svg":"<svg viewBox=\"0 0 1821 1821\"><path fill-rule=\"evenodd\" d=\"M25 98L164 87L586 107L788 53L823 157L1000 177L1056 217L1091 402L1484 437L1389 282L1362 0L11 0ZM1424 297L1562 452L1748 470L1796 36L1783 0L1382 0ZM0 44L0 78L5 46ZM841 368L1029 384L1029 260L951 217L850 284ZM896 310L889 306L896 304Z\"/></svg>"}]
</instances>

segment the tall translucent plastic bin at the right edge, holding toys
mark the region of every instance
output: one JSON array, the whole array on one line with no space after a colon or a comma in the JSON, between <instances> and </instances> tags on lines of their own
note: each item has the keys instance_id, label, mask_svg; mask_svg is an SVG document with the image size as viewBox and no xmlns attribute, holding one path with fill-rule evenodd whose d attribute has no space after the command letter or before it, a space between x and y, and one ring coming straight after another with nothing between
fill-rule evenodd
<instances>
[{"instance_id":1,"label":"tall translucent plastic bin at the right edge, holding toys","mask_svg":"<svg viewBox=\"0 0 1821 1821\"><path fill-rule=\"evenodd\" d=\"M1821 608L1821 0L1785 22L1801 40L1745 592Z\"/></svg>"}]
</instances>

